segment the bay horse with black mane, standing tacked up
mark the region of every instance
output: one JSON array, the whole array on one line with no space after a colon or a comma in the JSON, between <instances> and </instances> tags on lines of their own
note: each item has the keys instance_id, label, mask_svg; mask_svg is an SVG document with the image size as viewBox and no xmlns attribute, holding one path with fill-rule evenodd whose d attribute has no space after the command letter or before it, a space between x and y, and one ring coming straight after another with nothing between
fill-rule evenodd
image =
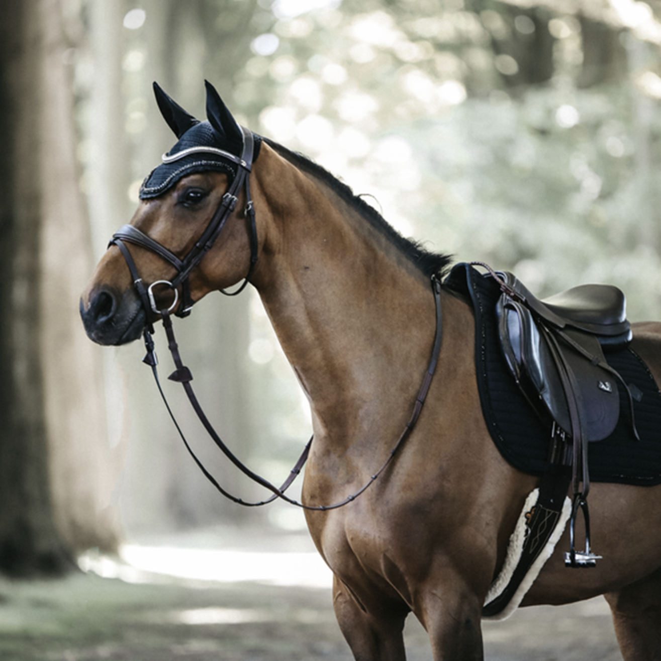
<instances>
[{"instance_id":1,"label":"bay horse with black mane, standing tacked up","mask_svg":"<svg viewBox=\"0 0 661 661\"><path fill-rule=\"evenodd\" d=\"M490 438L473 310L445 286L426 406L372 479L407 427L428 369L437 327L430 278L443 276L449 258L401 237L312 161L241 128L211 85L204 122L156 91L179 141L145 180L129 229L114 237L83 293L87 334L99 344L132 342L161 307L185 314L206 294L249 281L311 407L301 497L354 657L405 659L412 612L436 661L482 659L485 597L539 478L514 469ZM661 382L661 325L633 331L632 346ZM603 560L566 568L565 530L522 605L603 594L623 657L658 660L661 486L595 483L590 504Z\"/></svg>"}]
</instances>

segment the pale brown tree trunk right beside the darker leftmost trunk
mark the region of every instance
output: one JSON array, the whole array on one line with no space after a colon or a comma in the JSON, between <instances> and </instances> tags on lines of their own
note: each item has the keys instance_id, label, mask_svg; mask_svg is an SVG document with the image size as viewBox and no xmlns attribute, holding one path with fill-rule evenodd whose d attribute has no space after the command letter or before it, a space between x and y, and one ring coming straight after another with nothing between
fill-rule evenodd
<instances>
[{"instance_id":1,"label":"pale brown tree trunk right beside the darker leftmost trunk","mask_svg":"<svg viewBox=\"0 0 661 661\"><path fill-rule=\"evenodd\" d=\"M93 260L61 0L40 0L40 14L41 346L55 518L76 551L113 550L119 526L111 501L126 444L121 436L108 444L101 357L78 312Z\"/></svg>"}]
</instances>

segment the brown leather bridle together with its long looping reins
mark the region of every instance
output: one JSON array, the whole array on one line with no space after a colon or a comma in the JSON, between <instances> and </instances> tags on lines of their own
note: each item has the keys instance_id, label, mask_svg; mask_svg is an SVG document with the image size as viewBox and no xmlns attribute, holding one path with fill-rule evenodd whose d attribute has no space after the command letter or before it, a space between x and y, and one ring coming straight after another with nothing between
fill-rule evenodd
<instances>
[{"instance_id":1,"label":"brown leather bridle together with its long looping reins","mask_svg":"<svg viewBox=\"0 0 661 661\"><path fill-rule=\"evenodd\" d=\"M249 278L251 277L251 274L253 273L254 265L256 264L256 260L257 260L256 223L254 219L253 201L251 199L250 186L249 186L249 178L252 167L252 155L253 155L253 135L251 132L249 132L246 129L243 129L243 133L244 133L244 148L243 148L242 157L239 159L233 155L229 155L229 154L227 155L231 161L239 165L237 176L232 182L228 192L225 194L225 196L223 196L223 199L221 200L221 204L219 205L219 208L215 212L214 216L212 217L207 229L204 231L202 237L196 243L196 245L190 251L190 253L188 253L188 255L186 255L183 259L180 260L178 257L175 256L175 254L171 253L171 251L169 251L167 248L157 243L157 241L151 239L151 237L148 237L147 235L143 234L141 231L139 231L132 225L124 225L122 228L120 228L120 230L115 235L113 235L112 241L110 241L110 245L116 245L122 252L122 255L124 256L128 268L131 272L131 276L134 282L134 287L136 288L137 294L139 295L143 308L145 309L145 314L147 315L147 323L143 331L143 339L145 342L145 348L147 349L147 355L145 356L143 362L145 362L145 364L151 367L156 385L159 389L159 393L161 394L161 398L163 399L163 403L165 404L165 408L167 409L169 416L171 417L173 423L175 424L175 428L182 442L184 443L184 446L188 450L188 453L195 461L195 463L198 465L204 476L212 483L212 485L215 486L215 488L223 496L225 496L225 498L228 498L232 502L235 502L243 506L257 507L260 505L266 505L269 502L273 502L274 500L276 500L276 498L281 498L282 500L297 507L303 508L305 510L321 510L321 511L333 510L342 507L355 500L358 496L360 496L360 494L362 494L371 484L373 484L377 480L379 475L381 475L385 471L385 469L387 469L387 467L390 465L391 461L395 457L395 454L401 448L401 446L403 446L408 436L410 436L411 432L416 426L416 422L418 422L418 418L420 417L420 413L422 412L422 407L424 406L424 402L426 400L430 385L432 383L432 377L434 376L434 371L436 370L436 365L438 364L438 356L441 350L441 342L442 342L442 334L443 334L443 319L442 319L442 309L441 309L441 301L440 301L441 284L438 278L436 278L436 276L432 276L432 291L434 292L434 303L436 305L436 333L434 336L432 357L430 359L427 371L422 380L422 386L420 387L420 391L418 392L418 396L416 397L412 415L408 420L403 432L401 433L401 436L399 436L399 440L397 440L397 443L395 444L395 446L389 453L387 459L385 460L385 463L383 463L381 468L379 468L379 470L376 471L376 473L371 475L369 481L365 485L363 485L360 489L358 489L358 491L354 492L350 496L344 498L344 500L333 503L331 505L317 505L317 506L305 505L295 500L294 498L290 498L290 496L286 495L285 493L286 490L292 485L297 475L299 475L299 473L301 472L301 469L303 469L303 465L305 465L305 461L307 461L307 457L309 455L310 447L314 437L311 437L310 440L307 442L307 445L303 449L301 456L299 457L292 471L290 471L290 475L280 487L273 485L268 480L264 479L260 475L257 475L256 473L251 471L251 469L246 467L234 455L234 453L229 449L229 447L225 445L223 440L215 431L214 426L211 424L206 414L204 413L204 410L202 409L193 391L192 385L190 385L190 382L193 379L192 373L190 369L186 367L182 362L178 344L176 343L175 331L173 329L172 318L171 318L171 312L175 310L177 307L179 286L181 286L183 292L182 305L180 306L180 309L178 309L175 312L175 314L183 317L190 313L190 308L192 307L192 301L190 300L188 276L190 276L190 272L192 272L193 268L195 268L195 266L197 266L197 264L199 264L202 261L204 255L212 248L215 239L221 233L223 227L225 226L225 222L227 221L227 218L229 217L231 212L234 210L235 205L237 204L238 194L239 192L241 192L242 186L245 187L246 198L247 198L246 216L249 219L250 241L251 241L251 264L249 266L249 272L243 284L241 284L239 290L236 290L235 292L229 295L236 295L237 293L243 291L243 289L249 282ZM145 288L145 285L143 284L143 281L139 276L136 263L134 262L130 251L124 244L125 241L128 243L135 243L136 245L139 245L143 248L147 248L155 252L159 256L161 256L163 259L165 259L173 266L175 266L175 268L178 271L178 275L176 276L175 280L173 280L172 282L167 280L157 280L156 282L153 282L148 288ZM170 287L175 292L175 301L169 308L158 309L155 301L155 296L153 294L153 288L156 285L163 285ZM223 293L227 293L227 292L223 292ZM192 405L194 411L196 412L198 418L200 419L200 422L202 422L202 425L206 429L207 433L212 438L216 446L219 447L219 449L223 452L225 457L227 457L227 459L229 459L229 461L231 461L231 463L233 463L244 475L249 477L258 485L263 486L264 488L272 492L272 496L270 496L270 498L267 498L266 500L261 500L259 502L245 502L245 500L233 496L232 494L227 492L221 485L219 485L219 483L216 481L214 476L211 475L211 473L206 469L206 467L204 467L200 459L198 459L192 447L190 447L188 440L186 440L186 436L182 432L178 422L176 421L175 415L173 414L173 411L170 408L167 398L165 397L165 393L163 392L163 388L161 387L161 381L159 379L159 373L157 369L158 360L156 358L155 345L152 337L154 329L153 329L153 325L151 325L151 323L149 322L149 315L151 311L153 311L157 315L160 315L161 320L163 321L163 327L165 328L165 333L168 338L169 350L171 352L173 362L175 363L176 369L168 378L171 381L177 381L178 383L182 384L182 386L184 387L184 391L186 391L186 395L188 396L190 404Z\"/></svg>"}]
</instances>

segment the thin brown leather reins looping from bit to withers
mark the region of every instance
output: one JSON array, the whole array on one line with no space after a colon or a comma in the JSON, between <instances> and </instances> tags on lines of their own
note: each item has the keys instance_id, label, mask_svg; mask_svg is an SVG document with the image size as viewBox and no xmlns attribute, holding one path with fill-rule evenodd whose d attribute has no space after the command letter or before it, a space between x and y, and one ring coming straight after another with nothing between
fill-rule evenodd
<instances>
[{"instance_id":1,"label":"thin brown leather reins looping from bit to withers","mask_svg":"<svg viewBox=\"0 0 661 661\"><path fill-rule=\"evenodd\" d=\"M178 422L176 421L176 418L167 402L167 399L165 397L165 393L163 392L163 388L161 387L161 382L159 379L158 375L158 370L157 370L157 359L154 351L154 342L153 338L151 336L151 332L149 332L148 329L145 329L143 337L145 340L145 347L147 348L147 356L145 356L145 359L143 362L148 364L152 371L153 375L157 384L157 387L159 389L159 393L161 393L161 398L163 399L163 402L165 403L165 407L167 408L167 411L172 418L175 428L184 442L184 446L188 450L188 453L191 455L192 459L195 461L195 463L198 465L204 476L212 483L212 485L215 486L215 488L223 495L225 498L228 498L232 502L235 502L240 505L244 505L247 507L256 507L260 505L266 505L267 503L273 502L276 500L276 498L281 498L282 500L295 505L297 507L303 508L305 510L321 510L321 511L326 511L326 510L334 510L336 508L340 508L350 502L352 500L355 500L360 494L362 494L371 484L373 484L381 475L385 469L390 465L391 461L395 457L395 454L397 451L403 446L403 444L406 442L408 436L410 436L411 432L414 430L416 423L418 422L418 418L420 418L420 413L422 412L422 407L424 406L424 403L426 401L427 394L429 392L430 385L432 383L432 377L434 376L434 371L436 370L436 365L438 364L438 357L440 355L440 350L441 350L441 344L442 344L442 336L443 336L443 317L442 317L442 309L441 309L441 284L439 280L432 276L432 290L434 292L434 303L436 305L436 333L434 335L434 345L432 348L432 356L430 358L430 362L427 368L427 371L425 372L424 378L422 380L422 385L420 387L420 391L418 392L418 396L416 397L416 401L414 403L413 407L413 412L408 420L401 436L399 437L399 440L397 440L397 443L395 444L395 447L391 450L389 453L387 459L385 460L385 463L381 466L381 468L374 473L369 481L363 485L358 491L354 492L350 496L347 496L344 498L344 500L341 500L340 502L336 502L334 504L330 505L317 505L317 506L311 506L311 505L305 505L293 498L290 498L290 496L286 495L286 490L292 485L293 481L299 475L301 472L301 469L303 469L303 465L305 464L305 461L307 461L307 456L309 455L310 447L313 441L313 438L310 438L310 440L307 442L307 445L303 449L303 453L301 453L301 456L299 457L298 461L296 462L296 465L293 467L292 471L290 471L290 475L286 479L286 481L282 484L282 486L278 487L270 483L268 480L264 479L260 475L257 475L253 471L251 471L248 467L246 467L235 455L234 453L225 445L223 440L220 438L220 436L217 434L217 432L214 429L214 426L211 424L211 422L208 420L206 414L204 413L204 410L200 406L200 403L198 402L198 399L193 391L192 385L190 382L193 379L192 373L188 367L186 367L181 359L178 344L175 339L175 331L173 329L172 325L172 319L170 316L169 311L164 310L161 311L161 318L163 319L163 327L165 328L165 334L167 335L168 339L168 347L170 350L170 353L173 358L173 362L175 363L175 371L168 377L171 381L176 381L177 383L181 383L182 387L184 388L184 391L186 391L186 395L188 396L188 399L195 410L196 414L198 415L198 418L200 418L200 422L202 422L202 425L206 429L207 433L210 435L212 440L215 442L216 446L219 447L219 449L223 452L225 457L231 461L238 469L249 477L251 480L253 480L255 483L257 483L260 486L263 486L270 492L272 492L272 496L266 500L262 500L260 502L245 502L245 500L242 500L241 498L237 498L236 496L233 496L229 494L222 486L219 485L219 483L216 481L213 475L209 473L209 471L204 467L200 459L196 456L194 453L192 447L190 447L190 444L188 443L188 440L186 440L186 437L184 436ZM238 292L237 292L238 293Z\"/></svg>"}]
</instances>

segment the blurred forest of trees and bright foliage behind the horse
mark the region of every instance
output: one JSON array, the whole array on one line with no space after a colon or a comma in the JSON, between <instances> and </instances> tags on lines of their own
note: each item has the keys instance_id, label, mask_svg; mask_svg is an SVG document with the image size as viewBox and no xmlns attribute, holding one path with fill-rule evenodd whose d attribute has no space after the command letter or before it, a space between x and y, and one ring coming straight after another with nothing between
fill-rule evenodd
<instances>
[{"instance_id":1,"label":"blurred forest of trees and bright foliage behind the horse","mask_svg":"<svg viewBox=\"0 0 661 661\"><path fill-rule=\"evenodd\" d=\"M204 116L209 79L242 124L430 249L514 270L540 295L611 282L631 319L661 319L660 20L657 0L5 0L0 571L58 572L182 528L303 526L286 506L225 504L141 346L82 330L93 264L175 141L152 81ZM284 479L307 405L256 294L207 297L177 326L221 435ZM167 391L221 483L260 496Z\"/></svg>"}]
</instances>

